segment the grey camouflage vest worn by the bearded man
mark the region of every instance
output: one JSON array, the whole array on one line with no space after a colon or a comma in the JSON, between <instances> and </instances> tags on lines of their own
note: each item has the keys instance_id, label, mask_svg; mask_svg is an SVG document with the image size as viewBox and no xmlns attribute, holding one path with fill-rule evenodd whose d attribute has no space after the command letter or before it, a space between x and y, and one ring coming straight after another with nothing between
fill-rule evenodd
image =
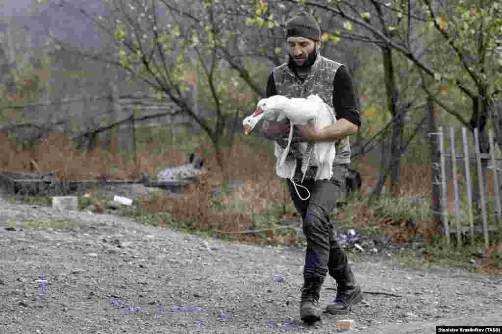
<instances>
[{"instance_id":1,"label":"grey camouflage vest worn by the bearded man","mask_svg":"<svg viewBox=\"0 0 502 334\"><path fill-rule=\"evenodd\" d=\"M273 70L274 81L278 95L284 95L288 98L303 97L307 98L311 94L317 94L333 110L333 80L338 68L342 64L337 63L318 54L316 61L312 65L310 73L305 81L302 82L295 73L288 67L288 64L282 64ZM336 116L336 110L334 110ZM338 119L338 117L337 117ZM336 156L333 162L335 164L350 163L350 142L349 138L337 141ZM299 157L298 144L291 144L290 154Z\"/></svg>"}]
</instances>

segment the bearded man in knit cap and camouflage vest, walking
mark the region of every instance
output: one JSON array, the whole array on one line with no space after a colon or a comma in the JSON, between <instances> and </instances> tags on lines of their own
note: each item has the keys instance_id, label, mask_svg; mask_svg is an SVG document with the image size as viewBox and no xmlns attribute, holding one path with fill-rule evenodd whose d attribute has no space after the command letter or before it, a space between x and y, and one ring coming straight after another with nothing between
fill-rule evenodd
<instances>
[{"instance_id":1,"label":"bearded man in knit cap and camouflage vest, walking","mask_svg":"<svg viewBox=\"0 0 502 334\"><path fill-rule=\"evenodd\" d=\"M307 239L300 317L310 323L320 320L319 292L327 272L336 280L337 295L326 307L326 312L346 314L352 305L363 298L329 220L337 196L345 189L345 173L350 163L347 136L358 131L360 112L347 68L319 54L321 31L314 17L306 12L294 16L286 23L286 39L290 49L289 62L272 71L267 82L267 97L285 95L289 98L306 98L310 94L318 94L333 108L337 119L335 124L324 127L320 132L316 132L311 125L295 126L295 137L288 154L288 158L297 159L296 183L302 179L300 166L306 162L312 143L336 141L333 177L314 181L316 168L311 167L306 172L302 185L311 194L308 200L299 198L288 179L291 198L302 217L303 232ZM288 120L282 123L265 121L262 131L268 138L276 140L276 149L278 146L286 147ZM306 152L299 145L299 142L305 141L309 143Z\"/></svg>"}]
</instances>

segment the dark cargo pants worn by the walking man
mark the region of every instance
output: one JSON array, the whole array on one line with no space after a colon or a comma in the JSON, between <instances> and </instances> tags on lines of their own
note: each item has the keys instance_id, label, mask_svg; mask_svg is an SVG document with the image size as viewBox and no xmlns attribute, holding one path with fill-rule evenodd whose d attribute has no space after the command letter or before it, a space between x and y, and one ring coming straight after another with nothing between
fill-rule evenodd
<instances>
[{"instance_id":1,"label":"dark cargo pants worn by the walking man","mask_svg":"<svg viewBox=\"0 0 502 334\"><path fill-rule=\"evenodd\" d=\"M315 169L312 168L312 173L314 172ZM291 198L302 217L303 233L307 239L304 277L324 278L329 272L337 284L342 286L352 281L355 283L355 278L348 266L345 252L337 242L334 222L330 221L329 214L335 208L337 198L345 191L346 172L347 165L335 165L330 180L305 179L301 185L310 192L310 198L306 201L298 197L293 183L288 180ZM310 176L312 173L309 173ZM300 168L297 168L295 179L299 180L296 182L299 184L302 179ZM298 186L297 189L303 198L307 197L305 189Z\"/></svg>"}]
</instances>

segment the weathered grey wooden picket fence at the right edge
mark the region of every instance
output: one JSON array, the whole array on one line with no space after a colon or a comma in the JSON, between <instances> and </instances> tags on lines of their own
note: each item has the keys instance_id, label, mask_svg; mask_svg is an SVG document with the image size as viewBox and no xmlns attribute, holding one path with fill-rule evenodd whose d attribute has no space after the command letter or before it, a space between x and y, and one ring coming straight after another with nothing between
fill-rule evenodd
<instances>
[{"instance_id":1,"label":"weathered grey wooden picket fence at the right edge","mask_svg":"<svg viewBox=\"0 0 502 334\"><path fill-rule=\"evenodd\" d=\"M494 182L494 197L495 197L495 213L493 214L494 217L496 217L496 221L498 224L502 222L502 204L500 202L500 186L499 185L499 180L498 180L498 175L502 176L502 169L498 168L497 161L502 160L500 157L495 157L495 146L493 143L493 132L492 130L489 131L489 147L490 147L490 153L480 153L479 150L479 133L478 129L474 129L474 144L475 144L475 151L474 153L469 152L469 143L467 140L467 129L465 127L462 128L462 143L463 143L463 153L456 153L456 148L455 148L455 129L454 127L449 127L449 133L444 132L443 126L439 127L439 132L436 133L431 133L431 134L436 134L439 136L439 154L440 154L440 159L439 163L438 162L433 162L432 165L432 183L433 183L433 189L434 185L441 185L442 191L441 191L441 205L439 206L441 212L433 212L434 214L438 214L441 216L444 232L446 235L446 242L448 246L450 245L450 227L448 224L448 210L447 210L447 187L446 187L446 158L451 159L451 169L452 169L452 181L454 185L454 195L455 195L455 218L454 223L455 223L455 234L457 235L457 246L460 247L461 243L461 235L462 232L467 233L470 232L471 236L471 242L474 242L474 215L473 215L473 208L472 208L472 182L471 182L471 174L470 174L470 164L471 164L471 159L475 160L475 164L477 166L477 171L473 171L474 173L477 172L477 179L479 182L479 207L480 207L480 215L482 218L482 234L484 235L484 243L485 247L488 248L489 245L489 232L495 231L495 227L489 227L488 226L488 213L487 213L487 206L486 206L486 190L487 190L487 185L485 185L485 180L483 178L483 171L482 171L482 163L481 160L486 160L491 165L489 165L487 168L491 169L493 171L493 182ZM446 152L445 150L445 136L448 134L449 136L449 142L450 142L450 152ZM470 155L473 155L472 157ZM457 160L463 160L464 163L464 178L465 178L465 184L466 184L466 192L467 192L467 213L468 213L468 221L469 221L469 227L468 228L461 228L460 227L460 208L459 208L459 180L457 180ZM439 165L438 165L439 164ZM476 217L479 218L479 217ZM490 217L491 218L491 217Z\"/></svg>"}]
</instances>

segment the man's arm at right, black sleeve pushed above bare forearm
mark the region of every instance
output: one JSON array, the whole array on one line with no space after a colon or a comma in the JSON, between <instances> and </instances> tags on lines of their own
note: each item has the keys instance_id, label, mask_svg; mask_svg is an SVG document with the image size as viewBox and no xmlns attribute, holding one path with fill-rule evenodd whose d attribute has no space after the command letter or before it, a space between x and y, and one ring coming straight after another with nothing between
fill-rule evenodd
<instances>
[{"instance_id":1,"label":"man's arm at right, black sleeve pushed above bare forearm","mask_svg":"<svg viewBox=\"0 0 502 334\"><path fill-rule=\"evenodd\" d=\"M325 126L320 132L317 132L312 125L296 125L298 135L305 141L338 141L359 130L361 125L359 103L354 93L352 77L345 66L340 66L336 71L333 87L336 123Z\"/></svg>"}]
</instances>

